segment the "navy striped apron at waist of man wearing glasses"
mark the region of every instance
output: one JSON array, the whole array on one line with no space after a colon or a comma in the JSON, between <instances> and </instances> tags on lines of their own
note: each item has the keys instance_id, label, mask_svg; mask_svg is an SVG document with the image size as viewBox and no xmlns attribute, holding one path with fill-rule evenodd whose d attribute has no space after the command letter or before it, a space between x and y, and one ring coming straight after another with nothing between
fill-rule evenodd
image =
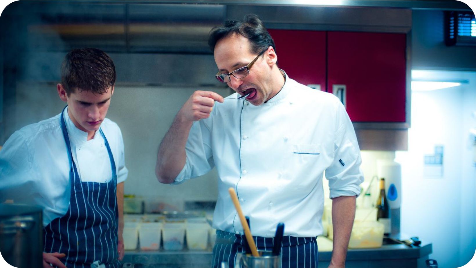
<instances>
[{"instance_id":1,"label":"navy striped apron at waist of man wearing glasses","mask_svg":"<svg viewBox=\"0 0 476 268\"><path fill-rule=\"evenodd\" d=\"M255 237L258 250L273 250L274 238ZM228 267L235 267L237 259L245 254L246 238L244 235L217 230L217 240L213 246L211 267L221 267L226 262ZM238 254L239 253L239 254ZM281 242L281 267L317 267L316 238L285 236Z\"/></svg>"}]
</instances>

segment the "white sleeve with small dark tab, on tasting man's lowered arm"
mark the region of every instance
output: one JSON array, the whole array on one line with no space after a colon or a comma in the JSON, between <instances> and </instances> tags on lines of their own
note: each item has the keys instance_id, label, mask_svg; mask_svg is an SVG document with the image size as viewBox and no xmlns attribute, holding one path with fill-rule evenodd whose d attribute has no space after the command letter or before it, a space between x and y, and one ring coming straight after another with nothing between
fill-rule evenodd
<instances>
[{"instance_id":1,"label":"white sleeve with small dark tab, on tasting man's lowered arm","mask_svg":"<svg viewBox=\"0 0 476 268\"><path fill-rule=\"evenodd\" d=\"M338 103L337 131L334 141L334 160L326 169L329 180L329 197L358 196L364 176L360 170L362 159L354 126L344 106Z\"/></svg>"}]
</instances>

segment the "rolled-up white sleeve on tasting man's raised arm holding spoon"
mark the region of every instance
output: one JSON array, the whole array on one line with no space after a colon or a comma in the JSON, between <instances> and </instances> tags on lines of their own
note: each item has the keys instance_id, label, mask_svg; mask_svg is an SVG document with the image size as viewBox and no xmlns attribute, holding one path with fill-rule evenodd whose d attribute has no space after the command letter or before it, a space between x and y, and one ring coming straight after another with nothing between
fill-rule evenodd
<instances>
[{"instance_id":1,"label":"rolled-up white sleeve on tasting man's raised arm holding spoon","mask_svg":"<svg viewBox=\"0 0 476 268\"><path fill-rule=\"evenodd\" d=\"M215 167L211 148L211 132L207 120L194 122L185 146L186 160L183 169L172 184L206 174Z\"/></svg>"}]
</instances>

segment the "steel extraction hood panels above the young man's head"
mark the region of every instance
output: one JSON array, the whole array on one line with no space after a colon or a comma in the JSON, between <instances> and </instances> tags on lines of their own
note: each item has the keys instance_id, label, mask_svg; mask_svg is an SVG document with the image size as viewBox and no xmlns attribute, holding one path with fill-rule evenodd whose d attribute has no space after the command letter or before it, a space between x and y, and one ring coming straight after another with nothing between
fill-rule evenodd
<instances>
[{"instance_id":1,"label":"steel extraction hood panels above the young man's head","mask_svg":"<svg viewBox=\"0 0 476 268\"><path fill-rule=\"evenodd\" d=\"M10 7L11 6L11 7ZM109 52L211 54L208 32L220 25L224 5L14 2L4 12L20 16L29 50L96 47ZM18 21L18 20L17 20Z\"/></svg>"}]
</instances>

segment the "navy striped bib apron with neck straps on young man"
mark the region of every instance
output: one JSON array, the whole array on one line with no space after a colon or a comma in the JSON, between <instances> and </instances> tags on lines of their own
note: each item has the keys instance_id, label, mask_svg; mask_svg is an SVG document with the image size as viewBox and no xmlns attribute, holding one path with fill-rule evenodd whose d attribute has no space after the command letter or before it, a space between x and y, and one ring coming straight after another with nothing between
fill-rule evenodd
<instances>
[{"instance_id":1,"label":"navy striped bib apron with neck straps on young man","mask_svg":"<svg viewBox=\"0 0 476 268\"><path fill-rule=\"evenodd\" d=\"M116 164L108 140L99 129L108 150L112 179L107 183L82 182L71 154L65 109L60 124L68 151L71 196L66 214L44 228L44 251L65 253L66 257L60 260L67 267L90 267L94 262L119 267Z\"/></svg>"}]
</instances>

